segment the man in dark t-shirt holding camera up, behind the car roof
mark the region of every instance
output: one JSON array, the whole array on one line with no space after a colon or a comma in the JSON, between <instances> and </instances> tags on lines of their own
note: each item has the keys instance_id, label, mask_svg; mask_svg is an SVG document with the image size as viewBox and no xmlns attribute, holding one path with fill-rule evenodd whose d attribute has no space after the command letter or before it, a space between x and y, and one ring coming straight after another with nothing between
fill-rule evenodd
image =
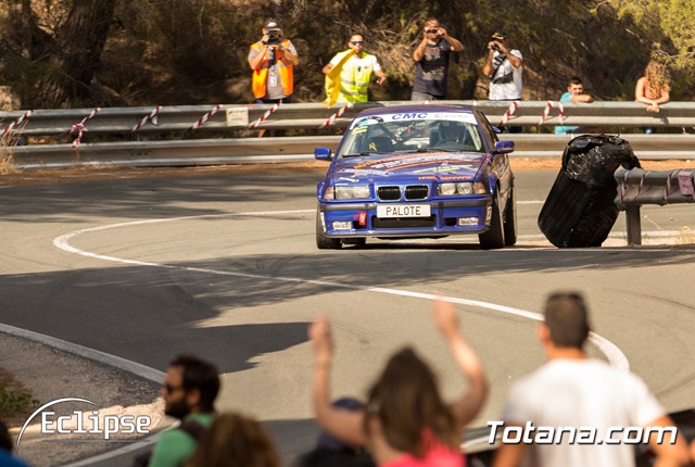
<instances>
[{"instance_id":1,"label":"man in dark t-shirt holding camera up, behind the car roof","mask_svg":"<svg viewBox=\"0 0 695 467\"><path fill-rule=\"evenodd\" d=\"M433 101L446 99L448 55L460 52L464 45L451 37L433 17L425 20L422 40L416 45L413 59L417 62L410 99Z\"/></svg>"}]
</instances>

